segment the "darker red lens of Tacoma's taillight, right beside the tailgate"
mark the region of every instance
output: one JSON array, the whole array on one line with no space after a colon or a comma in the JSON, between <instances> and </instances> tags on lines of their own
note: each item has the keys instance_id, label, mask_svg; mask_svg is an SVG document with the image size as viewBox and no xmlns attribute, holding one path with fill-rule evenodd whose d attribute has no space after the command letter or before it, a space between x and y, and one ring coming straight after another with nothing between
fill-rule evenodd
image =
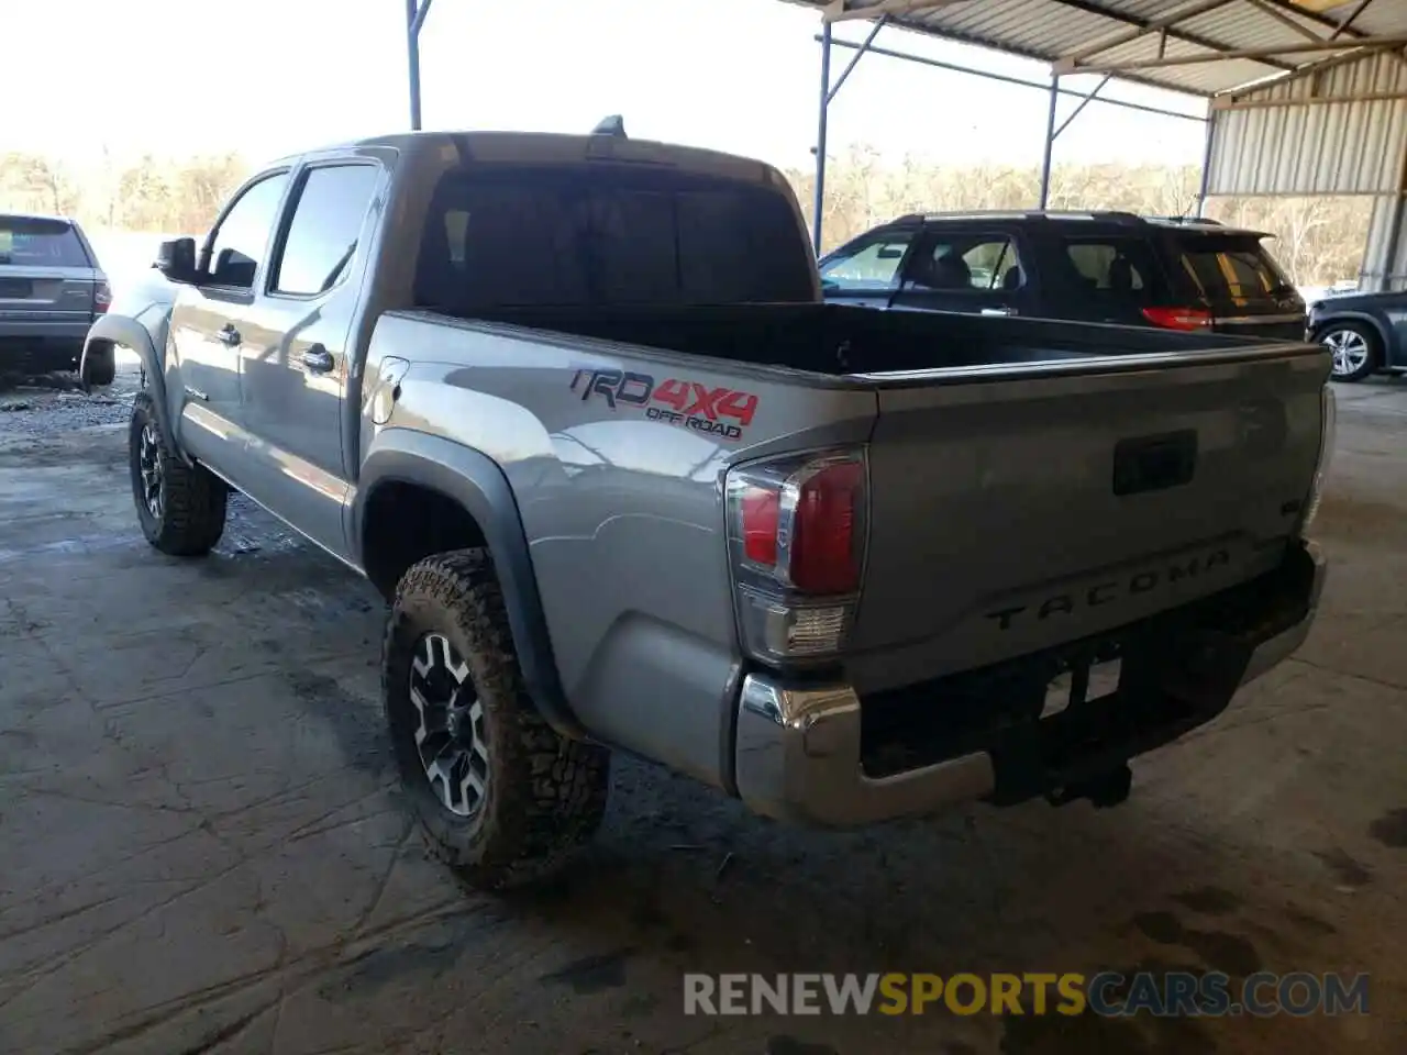
<instances>
[{"instance_id":1,"label":"darker red lens of Tacoma's taillight, right beside the tailgate","mask_svg":"<svg viewBox=\"0 0 1407 1055\"><path fill-rule=\"evenodd\" d=\"M864 466L840 461L820 468L801 485L788 571L792 585L803 594L860 589L855 520L864 482Z\"/></svg>"}]
</instances>

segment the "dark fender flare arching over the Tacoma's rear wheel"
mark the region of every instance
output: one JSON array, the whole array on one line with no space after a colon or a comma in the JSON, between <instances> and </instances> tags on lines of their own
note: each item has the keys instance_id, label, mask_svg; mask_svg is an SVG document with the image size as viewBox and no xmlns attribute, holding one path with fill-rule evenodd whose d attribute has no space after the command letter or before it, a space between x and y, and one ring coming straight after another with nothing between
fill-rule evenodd
<instances>
[{"instance_id":1,"label":"dark fender flare arching over the Tacoma's rear wheel","mask_svg":"<svg viewBox=\"0 0 1407 1055\"><path fill-rule=\"evenodd\" d=\"M349 525L352 550L363 568L367 502L377 487L388 482L438 491L474 518L494 560L518 664L533 703L561 736L590 738L561 688L528 535L504 470L483 452L440 436L409 429L381 430L362 463Z\"/></svg>"}]
</instances>

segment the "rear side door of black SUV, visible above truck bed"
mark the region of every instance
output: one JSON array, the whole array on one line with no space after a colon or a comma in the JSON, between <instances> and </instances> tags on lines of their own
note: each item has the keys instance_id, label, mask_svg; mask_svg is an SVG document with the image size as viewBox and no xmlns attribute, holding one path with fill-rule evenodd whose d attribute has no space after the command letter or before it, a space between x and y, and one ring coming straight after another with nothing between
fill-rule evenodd
<instances>
[{"instance_id":1,"label":"rear side door of black SUV, visible above truck bed","mask_svg":"<svg viewBox=\"0 0 1407 1055\"><path fill-rule=\"evenodd\" d=\"M1033 276L1010 231L929 228L891 307L968 315L1031 314Z\"/></svg>"}]
</instances>

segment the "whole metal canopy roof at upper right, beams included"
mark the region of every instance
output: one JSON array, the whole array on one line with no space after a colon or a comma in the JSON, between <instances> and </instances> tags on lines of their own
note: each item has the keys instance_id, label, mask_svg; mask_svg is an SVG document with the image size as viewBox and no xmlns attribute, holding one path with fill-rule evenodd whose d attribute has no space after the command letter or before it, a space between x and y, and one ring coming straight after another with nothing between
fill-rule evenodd
<instances>
[{"instance_id":1,"label":"whole metal canopy roof at upper right, beams included","mask_svg":"<svg viewBox=\"0 0 1407 1055\"><path fill-rule=\"evenodd\" d=\"M1214 96L1407 49L1407 0L791 0L1050 62L1055 73Z\"/></svg>"}]
</instances>

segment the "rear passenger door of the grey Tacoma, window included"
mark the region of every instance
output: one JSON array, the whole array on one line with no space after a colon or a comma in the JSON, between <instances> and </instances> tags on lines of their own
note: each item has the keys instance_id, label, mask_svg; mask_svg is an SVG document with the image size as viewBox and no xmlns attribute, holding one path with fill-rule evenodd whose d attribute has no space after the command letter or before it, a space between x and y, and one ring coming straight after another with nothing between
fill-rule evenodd
<instances>
[{"instance_id":1,"label":"rear passenger door of the grey Tacoma, window included","mask_svg":"<svg viewBox=\"0 0 1407 1055\"><path fill-rule=\"evenodd\" d=\"M373 232L381 173L371 159L295 173L239 346L239 422L249 436L242 487L339 556L348 494L342 399L366 259L357 250Z\"/></svg>"}]
</instances>

